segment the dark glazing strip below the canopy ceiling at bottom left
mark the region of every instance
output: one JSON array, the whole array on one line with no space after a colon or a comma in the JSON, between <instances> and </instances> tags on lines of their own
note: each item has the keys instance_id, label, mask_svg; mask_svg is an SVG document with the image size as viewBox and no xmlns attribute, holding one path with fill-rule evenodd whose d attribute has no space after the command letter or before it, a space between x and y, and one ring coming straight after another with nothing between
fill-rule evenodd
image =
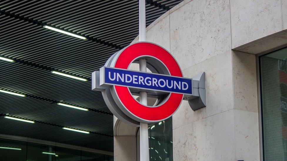
<instances>
[{"instance_id":1,"label":"dark glazing strip below the canopy ceiling at bottom left","mask_svg":"<svg viewBox=\"0 0 287 161\"><path fill-rule=\"evenodd\" d=\"M5 161L114 161L114 156L43 144L0 139L0 160Z\"/></svg>"}]
</instances>

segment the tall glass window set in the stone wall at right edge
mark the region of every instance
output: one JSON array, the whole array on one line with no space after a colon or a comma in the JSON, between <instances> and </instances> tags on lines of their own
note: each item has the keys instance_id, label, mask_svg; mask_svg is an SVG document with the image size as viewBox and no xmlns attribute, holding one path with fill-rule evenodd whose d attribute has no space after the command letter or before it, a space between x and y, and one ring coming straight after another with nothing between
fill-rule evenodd
<instances>
[{"instance_id":1,"label":"tall glass window set in the stone wall at right edge","mask_svg":"<svg viewBox=\"0 0 287 161\"><path fill-rule=\"evenodd\" d=\"M287 48L259 60L264 159L287 160Z\"/></svg>"}]
</instances>

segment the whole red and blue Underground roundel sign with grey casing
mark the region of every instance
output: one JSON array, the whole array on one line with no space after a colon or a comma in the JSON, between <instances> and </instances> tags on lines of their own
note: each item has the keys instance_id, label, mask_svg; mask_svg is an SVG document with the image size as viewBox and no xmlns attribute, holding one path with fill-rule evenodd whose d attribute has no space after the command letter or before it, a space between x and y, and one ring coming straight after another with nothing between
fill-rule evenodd
<instances>
[{"instance_id":1,"label":"whole red and blue Underground roundel sign with grey casing","mask_svg":"<svg viewBox=\"0 0 287 161\"><path fill-rule=\"evenodd\" d=\"M132 63L146 60L150 72L130 70ZM134 43L116 52L100 71L92 74L92 89L102 91L111 112L122 121L137 126L173 115L183 100L193 96L193 80L183 78L174 57L159 45ZM136 97L147 92L148 105Z\"/></svg>"}]
</instances>

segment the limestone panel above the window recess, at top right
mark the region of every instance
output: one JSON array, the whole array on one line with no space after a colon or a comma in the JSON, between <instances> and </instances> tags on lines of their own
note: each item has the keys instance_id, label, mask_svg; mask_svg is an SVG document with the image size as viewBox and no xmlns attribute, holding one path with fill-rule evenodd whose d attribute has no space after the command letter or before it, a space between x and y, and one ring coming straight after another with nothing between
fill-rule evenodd
<instances>
[{"instance_id":1,"label":"limestone panel above the window recess, at top right","mask_svg":"<svg viewBox=\"0 0 287 161\"><path fill-rule=\"evenodd\" d=\"M230 0L230 6L232 48L283 30L281 0Z\"/></svg>"}]
</instances>

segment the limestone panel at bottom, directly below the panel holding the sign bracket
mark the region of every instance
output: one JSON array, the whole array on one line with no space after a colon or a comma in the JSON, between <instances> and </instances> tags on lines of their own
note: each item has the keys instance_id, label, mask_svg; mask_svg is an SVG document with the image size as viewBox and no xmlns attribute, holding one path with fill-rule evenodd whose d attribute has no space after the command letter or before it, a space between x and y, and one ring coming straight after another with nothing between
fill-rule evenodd
<instances>
[{"instance_id":1,"label":"limestone panel at bottom, directly below the panel holding the sign bracket","mask_svg":"<svg viewBox=\"0 0 287 161\"><path fill-rule=\"evenodd\" d=\"M173 160L235 160L233 117L229 110L174 129Z\"/></svg>"}]
</instances>

